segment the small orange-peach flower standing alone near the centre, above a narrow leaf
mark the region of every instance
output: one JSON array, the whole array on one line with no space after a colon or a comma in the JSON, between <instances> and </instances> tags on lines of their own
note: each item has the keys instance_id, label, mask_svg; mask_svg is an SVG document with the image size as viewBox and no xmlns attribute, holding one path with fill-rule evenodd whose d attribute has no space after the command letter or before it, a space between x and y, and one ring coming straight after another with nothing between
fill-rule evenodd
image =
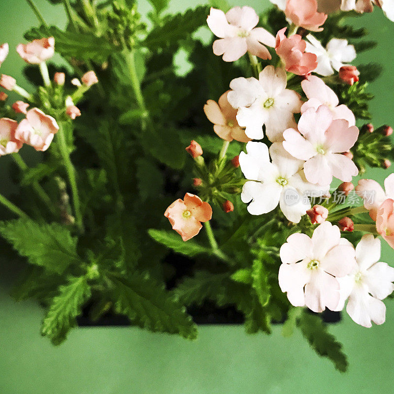
<instances>
[{"instance_id":1,"label":"small orange-peach flower standing alone near the centre, above a narrow leaf","mask_svg":"<svg viewBox=\"0 0 394 394\"><path fill-rule=\"evenodd\" d=\"M178 198L165 210L164 216L168 218L172 229L187 241L201 230L200 222L212 218L212 208L199 197L186 193L183 200Z\"/></svg>"}]
</instances>

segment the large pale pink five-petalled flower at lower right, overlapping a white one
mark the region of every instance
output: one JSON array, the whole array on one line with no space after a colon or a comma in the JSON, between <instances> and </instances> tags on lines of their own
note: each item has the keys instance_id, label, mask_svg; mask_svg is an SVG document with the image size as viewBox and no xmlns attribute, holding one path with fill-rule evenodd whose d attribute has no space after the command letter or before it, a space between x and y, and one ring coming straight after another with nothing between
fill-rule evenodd
<instances>
[{"instance_id":1,"label":"large pale pink five-petalled flower at lower right, overlapping a white one","mask_svg":"<svg viewBox=\"0 0 394 394\"><path fill-rule=\"evenodd\" d=\"M292 305L306 305L314 312L323 312L326 306L336 308L340 299L336 278L349 274L356 265L355 250L341 238L337 226L324 222L312 238L292 234L279 254L279 286Z\"/></svg>"}]
</instances>

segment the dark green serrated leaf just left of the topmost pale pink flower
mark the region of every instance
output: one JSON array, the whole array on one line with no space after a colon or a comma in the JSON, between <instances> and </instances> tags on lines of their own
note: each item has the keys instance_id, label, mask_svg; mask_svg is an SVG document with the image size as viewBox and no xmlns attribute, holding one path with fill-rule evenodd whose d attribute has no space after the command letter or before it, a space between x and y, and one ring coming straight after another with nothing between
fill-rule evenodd
<instances>
[{"instance_id":1,"label":"dark green serrated leaf just left of the topmost pale pink flower","mask_svg":"<svg viewBox=\"0 0 394 394\"><path fill-rule=\"evenodd\" d=\"M209 7L201 5L195 9L188 9L184 14L168 15L164 18L163 25L155 26L142 45L152 51L171 45L177 46L180 40L205 25L208 14Z\"/></svg>"}]
</instances>

